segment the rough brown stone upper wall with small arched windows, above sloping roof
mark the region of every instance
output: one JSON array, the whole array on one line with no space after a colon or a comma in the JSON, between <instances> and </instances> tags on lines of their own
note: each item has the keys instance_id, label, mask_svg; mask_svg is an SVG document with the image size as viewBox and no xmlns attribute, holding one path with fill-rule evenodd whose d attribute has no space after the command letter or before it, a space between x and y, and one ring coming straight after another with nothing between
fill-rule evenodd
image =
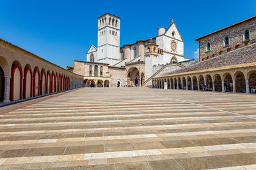
<instances>
[{"instance_id":1,"label":"rough brown stone upper wall with small arched windows, above sloping roof","mask_svg":"<svg viewBox=\"0 0 256 170\"><path fill-rule=\"evenodd\" d=\"M237 45L244 46L243 32L248 29L250 31L250 43L256 40L256 18L242 22L241 24L234 25L220 32L216 32L209 36L199 39L199 56L200 61L206 57L212 58L212 55L219 55L222 51L227 52L228 48L234 50ZM225 46L225 37L229 38L229 46ZM207 43L211 43L211 50L207 52Z\"/></svg>"}]
</instances>

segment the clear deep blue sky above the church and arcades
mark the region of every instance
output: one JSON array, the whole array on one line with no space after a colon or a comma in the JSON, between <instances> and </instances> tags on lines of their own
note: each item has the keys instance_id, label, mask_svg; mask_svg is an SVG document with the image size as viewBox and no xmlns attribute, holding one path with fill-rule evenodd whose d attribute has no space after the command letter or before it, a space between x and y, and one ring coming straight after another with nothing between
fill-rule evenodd
<instances>
[{"instance_id":1,"label":"clear deep blue sky above the church and arcades","mask_svg":"<svg viewBox=\"0 0 256 170\"><path fill-rule=\"evenodd\" d=\"M256 1L17 1L0 0L0 38L61 67L86 60L97 46L97 17L121 17L120 45L157 36L174 19L193 59L196 38L256 15Z\"/></svg>"}]
</instances>

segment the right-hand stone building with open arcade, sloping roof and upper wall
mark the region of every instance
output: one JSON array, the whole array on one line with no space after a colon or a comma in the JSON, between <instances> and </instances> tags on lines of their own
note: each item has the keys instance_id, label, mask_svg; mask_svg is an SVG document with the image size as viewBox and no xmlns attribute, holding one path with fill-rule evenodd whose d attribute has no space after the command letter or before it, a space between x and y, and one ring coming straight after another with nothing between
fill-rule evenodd
<instances>
[{"instance_id":1,"label":"right-hand stone building with open arcade, sloping roof and upper wall","mask_svg":"<svg viewBox=\"0 0 256 170\"><path fill-rule=\"evenodd\" d=\"M196 41L200 62L155 76L153 87L255 93L256 16Z\"/></svg>"}]
</instances>

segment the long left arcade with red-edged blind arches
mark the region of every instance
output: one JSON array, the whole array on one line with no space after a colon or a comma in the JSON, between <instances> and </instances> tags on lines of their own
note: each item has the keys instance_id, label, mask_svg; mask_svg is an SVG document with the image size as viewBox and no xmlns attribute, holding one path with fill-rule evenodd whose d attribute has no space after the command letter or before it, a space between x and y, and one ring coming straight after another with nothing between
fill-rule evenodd
<instances>
[{"instance_id":1,"label":"long left arcade with red-edged blind arches","mask_svg":"<svg viewBox=\"0 0 256 170\"><path fill-rule=\"evenodd\" d=\"M83 85L83 76L0 39L0 102L44 96Z\"/></svg>"}]
</instances>

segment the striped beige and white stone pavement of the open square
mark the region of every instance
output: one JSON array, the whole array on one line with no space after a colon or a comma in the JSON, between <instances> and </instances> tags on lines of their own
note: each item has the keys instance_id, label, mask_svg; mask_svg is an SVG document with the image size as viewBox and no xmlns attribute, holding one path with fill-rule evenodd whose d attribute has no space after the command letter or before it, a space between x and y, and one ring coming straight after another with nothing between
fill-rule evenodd
<instances>
[{"instance_id":1,"label":"striped beige and white stone pavement of the open square","mask_svg":"<svg viewBox=\"0 0 256 170\"><path fill-rule=\"evenodd\" d=\"M31 102L0 108L0 169L256 169L255 95L82 88Z\"/></svg>"}]
</instances>

